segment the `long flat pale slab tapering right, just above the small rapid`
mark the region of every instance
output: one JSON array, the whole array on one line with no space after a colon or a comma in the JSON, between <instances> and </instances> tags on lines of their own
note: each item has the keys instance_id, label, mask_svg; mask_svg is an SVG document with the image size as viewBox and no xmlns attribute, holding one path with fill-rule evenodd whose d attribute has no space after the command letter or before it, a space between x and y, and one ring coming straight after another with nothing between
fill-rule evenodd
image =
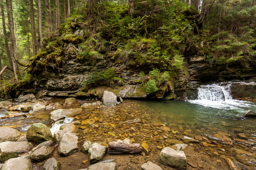
<instances>
[{"instance_id":1,"label":"long flat pale slab tapering right, just above the small rapid","mask_svg":"<svg viewBox=\"0 0 256 170\"><path fill-rule=\"evenodd\" d=\"M80 114L81 112L82 112L82 108L57 109L56 111L52 111L50 114L51 114L51 119L53 121L57 121L64 117L76 116L77 114Z\"/></svg>"}]
</instances>

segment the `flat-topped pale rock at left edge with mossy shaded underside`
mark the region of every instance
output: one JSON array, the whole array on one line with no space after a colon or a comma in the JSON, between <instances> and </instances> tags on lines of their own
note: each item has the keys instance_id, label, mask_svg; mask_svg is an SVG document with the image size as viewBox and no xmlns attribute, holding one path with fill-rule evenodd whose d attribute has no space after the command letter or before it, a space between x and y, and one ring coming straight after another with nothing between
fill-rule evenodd
<instances>
[{"instance_id":1,"label":"flat-topped pale rock at left edge with mossy shaded underside","mask_svg":"<svg viewBox=\"0 0 256 170\"><path fill-rule=\"evenodd\" d=\"M18 154L31 149L29 142L2 142L0 143L0 162L4 163L10 158L15 158Z\"/></svg>"}]
</instances>

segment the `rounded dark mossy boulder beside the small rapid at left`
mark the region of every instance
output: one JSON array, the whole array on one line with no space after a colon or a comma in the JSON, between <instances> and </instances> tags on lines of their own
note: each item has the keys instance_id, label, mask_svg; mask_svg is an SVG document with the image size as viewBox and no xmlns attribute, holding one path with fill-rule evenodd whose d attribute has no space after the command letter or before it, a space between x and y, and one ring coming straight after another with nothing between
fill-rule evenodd
<instances>
[{"instance_id":1,"label":"rounded dark mossy boulder beside the small rapid at left","mask_svg":"<svg viewBox=\"0 0 256 170\"><path fill-rule=\"evenodd\" d=\"M49 141L52 138L51 130L42 123L36 123L27 130L27 141L36 144Z\"/></svg>"}]
</instances>

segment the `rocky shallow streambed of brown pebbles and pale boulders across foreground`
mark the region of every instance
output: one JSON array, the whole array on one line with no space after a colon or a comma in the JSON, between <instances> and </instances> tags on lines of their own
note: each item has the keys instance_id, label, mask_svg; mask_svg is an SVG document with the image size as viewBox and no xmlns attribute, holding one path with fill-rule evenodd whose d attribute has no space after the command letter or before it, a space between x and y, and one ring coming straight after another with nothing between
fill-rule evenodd
<instances>
[{"instance_id":1,"label":"rocky shallow streambed of brown pebbles and pale boulders across foreground","mask_svg":"<svg viewBox=\"0 0 256 170\"><path fill-rule=\"evenodd\" d=\"M137 104L126 104L126 100L114 106L115 99L112 106L106 107L100 101L68 98L55 102L47 100L48 97L39 100L32 95L26 97L18 99L25 103L1 103L2 108L13 110L0 120L3 169L19 161L34 169L51 165L60 165L60 169L99 169L105 165L109 169L150 169L147 166L151 169L255 169L255 141L248 140L246 133L238 137L221 131L214 136L200 135L181 125L158 124L151 121L150 114L135 109ZM72 122L64 124L65 117L72 118ZM24 126L20 128L26 119L31 120L27 122L27 130ZM62 125L52 135L48 127L57 122ZM46 134L45 139L43 134ZM108 154L107 148L112 142L138 143L143 149L139 154ZM101 156L95 156L92 151L96 146L102 148ZM169 153L179 155L181 163L167 160Z\"/></svg>"}]
</instances>

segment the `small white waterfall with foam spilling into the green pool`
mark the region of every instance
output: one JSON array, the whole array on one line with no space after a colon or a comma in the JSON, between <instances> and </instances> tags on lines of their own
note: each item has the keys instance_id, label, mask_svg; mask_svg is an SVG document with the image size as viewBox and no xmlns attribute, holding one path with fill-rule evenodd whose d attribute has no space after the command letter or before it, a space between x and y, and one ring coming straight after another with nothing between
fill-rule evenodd
<instances>
[{"instance_id":1,"label":"small white waterfall with foam spilling into the green pool","mask_svg":"<svg viewBox=\"0 0 256 170\"><path fill-rule=\"evenodd\" d=\"M232 83L209 84L201 86L198 90L197 100L188 100L189 103L203 105L218 109L230 109L243 113L247 108L255 107L248 101L233 100L230 95Z\"/></svg>"}]
</instances>

